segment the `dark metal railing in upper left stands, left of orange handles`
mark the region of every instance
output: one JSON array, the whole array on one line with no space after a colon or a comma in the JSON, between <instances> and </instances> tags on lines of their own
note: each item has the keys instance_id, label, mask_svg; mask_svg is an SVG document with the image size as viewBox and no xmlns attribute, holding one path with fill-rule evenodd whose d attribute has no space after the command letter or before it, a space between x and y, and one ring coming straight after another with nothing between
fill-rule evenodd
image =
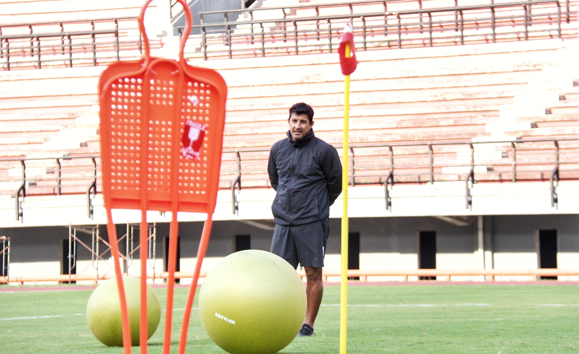
<instances>
[{"instance_id":1,"label":"dark metal railing in upper left stands, left of orange handles","mask_svg":"<svg viewBox=\"0 0 579 354\"><path fill-rule=\"evenodd\" d=\"M141 49L137 17L0 25L4 70L97 66L137 59Z\"/></svg>"}]
</instances>

